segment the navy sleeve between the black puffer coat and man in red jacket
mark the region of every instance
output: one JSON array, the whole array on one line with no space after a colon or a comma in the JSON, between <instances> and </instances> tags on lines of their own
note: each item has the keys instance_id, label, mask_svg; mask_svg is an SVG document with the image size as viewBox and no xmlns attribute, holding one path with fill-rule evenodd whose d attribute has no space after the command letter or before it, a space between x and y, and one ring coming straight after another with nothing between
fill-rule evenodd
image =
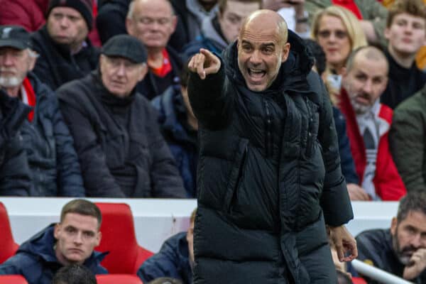
<instances>
[{"instance_id":1,"label":"navy sleeve between the black puffer coat and man in red jacket","mask_svg":"<svg viewBox=\"0 0 426 284\"><path fill-rule=\"evenodd\" d=\"M340 167L346 183L358 185L359 178L356 175L354 159L352 158L351 145L346 133L346 121L342 112L333 107L334 125L336 126L337 140L339 141Z\"/></svg>"}]
</instances>

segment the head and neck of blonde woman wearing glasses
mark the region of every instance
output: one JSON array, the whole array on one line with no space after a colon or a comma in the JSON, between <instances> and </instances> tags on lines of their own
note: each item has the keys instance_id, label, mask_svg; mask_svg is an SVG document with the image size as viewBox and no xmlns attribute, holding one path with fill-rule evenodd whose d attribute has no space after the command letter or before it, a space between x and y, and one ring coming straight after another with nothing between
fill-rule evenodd
<instances>
[{"instance_id":1,"label":"head and neck of blonde woman wearing glasses","mask_svg":"<svg viewBox=\"0 0 426 284\"><path fill-rule=\"evenodd\" d=\"M341 6L329 6L315 14L311 38L321 45L327 59L324 82L330 93L338 93L347 58L352 50L367 45L361 24L351 11Z\"/></svg>"}]
</instances>

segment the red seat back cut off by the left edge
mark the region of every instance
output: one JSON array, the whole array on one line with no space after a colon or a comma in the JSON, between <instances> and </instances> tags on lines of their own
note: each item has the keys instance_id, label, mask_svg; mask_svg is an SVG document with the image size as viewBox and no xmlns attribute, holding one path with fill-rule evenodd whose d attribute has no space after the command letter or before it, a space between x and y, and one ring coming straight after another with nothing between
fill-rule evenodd
<instances>
[{"instance_id":1,"label":"red seat back cut off by the left edge","mask_svg":"<svg viewBox=\"0 0 426 284\"><path fill-rule=\"evenodd\" d=\"M18 250L18 244L13 240L11 231L11 224L9 223L9 216L4 204L0 202L0 263L4 263L7 258L13 256Z\"/></svg>"}]
</instances>

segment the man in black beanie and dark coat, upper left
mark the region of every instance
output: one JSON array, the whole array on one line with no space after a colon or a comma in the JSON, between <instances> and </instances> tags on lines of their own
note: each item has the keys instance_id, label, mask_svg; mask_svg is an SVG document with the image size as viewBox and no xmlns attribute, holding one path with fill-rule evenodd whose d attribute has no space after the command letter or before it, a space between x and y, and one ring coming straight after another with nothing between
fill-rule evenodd
<instances>
[{"instance_id":1,"label":"man in black beanie and dark coat, upper left","mask_svg":"<svg viewBox=\"0 0 426 284\"><path fill-rule=\"evenodd\" d=\"M99 51L87 38L92 21L92 1L50 0L46 24L31 38L40 54L34 72L53 90L96 69Z\"/></svg>"}]
</instances>

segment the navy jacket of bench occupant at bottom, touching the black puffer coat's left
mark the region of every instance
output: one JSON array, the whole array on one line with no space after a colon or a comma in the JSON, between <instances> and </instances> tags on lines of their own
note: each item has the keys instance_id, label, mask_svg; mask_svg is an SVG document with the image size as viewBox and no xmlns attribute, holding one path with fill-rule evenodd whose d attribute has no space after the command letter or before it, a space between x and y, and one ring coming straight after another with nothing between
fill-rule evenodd
<instances>
[{"instance_id":1,"label":"navy jacket of bench occupant at bottom, touching the black puffer coat's left","mask_svg":"<svg viewBox=\"0 0 426 284\"><path fill-rule=\"evenodd\" d=\"M191 284L192 269L186 232L175 234L166 240L160 251L142 264L138 276L143 283L155 278L172 277L182 280L184 284Z\"/></svg>"}]
</instances>

